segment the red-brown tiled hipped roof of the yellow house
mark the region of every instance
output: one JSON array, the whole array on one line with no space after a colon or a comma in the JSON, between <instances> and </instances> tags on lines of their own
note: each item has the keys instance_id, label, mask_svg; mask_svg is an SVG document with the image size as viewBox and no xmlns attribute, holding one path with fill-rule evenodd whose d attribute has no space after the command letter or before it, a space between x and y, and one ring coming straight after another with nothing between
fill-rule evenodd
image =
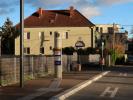
<instances>
[{"instance_id":1,"label":"red-brown tiled hipped roof of the yellow house","mask_svg":"<svg viewBox=\"0 0 133 100\"><path fill-rule=\"evenodd\" d=\"M92 27L94 24L79 11L71 10L39 10L24 20L25 28L31 27ZM19 24L17 25L17 27Z\"/></svg>"}]
</instances>

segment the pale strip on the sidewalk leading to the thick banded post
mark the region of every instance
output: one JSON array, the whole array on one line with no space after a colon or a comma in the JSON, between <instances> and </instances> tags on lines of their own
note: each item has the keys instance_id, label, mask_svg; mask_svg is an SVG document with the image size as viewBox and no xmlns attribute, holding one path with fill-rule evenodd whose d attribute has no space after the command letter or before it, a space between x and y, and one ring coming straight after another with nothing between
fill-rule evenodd
<instances>
[{"instance_id":1,"label":"pale strip on the sidewalk leading to the thick banded post","mask_svg":"<svg viewBox=\"0 0 133 100\"><path fill-rule=\"evenodd\" d=\"M48 88L40 88L37 90L36 93L32 93L30 95L27 95L25 97L19 98L17 100L32 100L36 97L39 97L41 95L44 95L48 92L55 92L55 91L60 91L61 88L58 88L60 86L61 83L61 79L55 79L53 80L53 82L50 84L50 86Z\"/></svg>"}]
</instances>

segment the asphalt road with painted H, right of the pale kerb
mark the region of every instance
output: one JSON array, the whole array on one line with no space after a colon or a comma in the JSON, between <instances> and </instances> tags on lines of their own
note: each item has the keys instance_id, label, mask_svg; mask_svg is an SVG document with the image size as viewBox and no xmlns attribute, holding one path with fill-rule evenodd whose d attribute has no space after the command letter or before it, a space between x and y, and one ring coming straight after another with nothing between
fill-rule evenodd
<instances>
[{"instance_id":1,"label":"asphalt road with painted H, right of the pale kerb","mask_svg":"<svg viewBox=\"0 0 133 100\"><path fill-rule=\"evenodd\" d=\"M133 68L122 66L66 100L133 100Z\"/></svg>"}]
</instances>

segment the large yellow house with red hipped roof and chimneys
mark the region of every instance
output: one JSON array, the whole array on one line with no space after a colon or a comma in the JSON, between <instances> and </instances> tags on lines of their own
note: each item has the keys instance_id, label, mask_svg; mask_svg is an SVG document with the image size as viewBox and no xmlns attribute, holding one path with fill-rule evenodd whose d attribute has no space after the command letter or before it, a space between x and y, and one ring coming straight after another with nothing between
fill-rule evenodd
<instances>
[{"instance_id":1,"label":"large yellow house with red hipped roof and chimneys","mask_svg":"<svg viewBox=\"0 0 133 100\"><path fill-rule=\"evenodd\" d=\"M62 34L63 48L75 47L77 41L83 41L85 47L95 46L95 25L73 7L69 10L39 8L24 20L24 27L24 53L28 55L52 55L55 32ZM15 39L15 55L20 53L19 39Z\"/></svg>"}]
</instances>

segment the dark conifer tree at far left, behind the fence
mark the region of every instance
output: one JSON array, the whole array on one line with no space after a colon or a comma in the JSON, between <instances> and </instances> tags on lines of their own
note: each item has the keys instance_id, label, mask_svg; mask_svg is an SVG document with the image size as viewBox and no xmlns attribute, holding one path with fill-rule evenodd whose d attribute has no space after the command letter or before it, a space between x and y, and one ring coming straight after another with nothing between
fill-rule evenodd
<instances>
[{"instance_id":1,"label":"dark conifer tree at far left, behind the fence","mask_svg":"<svg viewBox=\"0 0 133 100\"><path fill-rule=\"evenodd\" d=\"M12 21L7 18L4 25L0 27L0 54L14 54L14 40L18 33Z\"/></svg>"}]
</instances>

